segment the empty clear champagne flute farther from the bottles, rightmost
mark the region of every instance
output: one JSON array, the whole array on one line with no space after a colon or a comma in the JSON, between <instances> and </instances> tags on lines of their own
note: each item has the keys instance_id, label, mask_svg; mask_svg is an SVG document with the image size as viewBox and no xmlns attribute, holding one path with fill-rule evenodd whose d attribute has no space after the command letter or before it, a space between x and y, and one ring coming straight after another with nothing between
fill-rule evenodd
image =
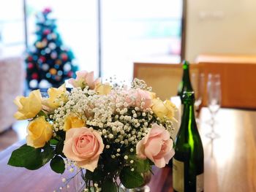
<instances>
[{"instance_id":1,"label":"empty clear champagne flute farther from the bottles, rightmost","mask_svg":"<svg viewBox=\"0 0 256 192\"><path fill-rule=\"evenodd\" d=\"M211 112L211 132L206 134L206 137L215 139L219 135L214 131L215 115L221 106L221 86L219 74L208 74L207 82L208 92L208 110Z\"/></svg>"}]
</instances>

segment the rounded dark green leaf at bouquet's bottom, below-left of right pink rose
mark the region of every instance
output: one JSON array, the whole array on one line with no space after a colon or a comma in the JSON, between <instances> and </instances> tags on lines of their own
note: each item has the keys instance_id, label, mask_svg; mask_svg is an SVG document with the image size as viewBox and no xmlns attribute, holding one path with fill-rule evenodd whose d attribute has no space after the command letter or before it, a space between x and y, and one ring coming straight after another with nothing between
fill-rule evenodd
<instances>
[{"instance_id":1,"label":"rounded dark green leaf at bouquet's bottom, below-left of right pink rose","mask_svg":"<svg viewBox=\"0 0 256 192\"><path fill-rule=\"evenodd\" d=\"M131 171L132 167L130 166L124 166L124 168L120 172L120 180L121 183L124 185L126 188L138 188L141 185L143 185L143 177L140 174L140 172Z\"/></svg>"}]
</instances>

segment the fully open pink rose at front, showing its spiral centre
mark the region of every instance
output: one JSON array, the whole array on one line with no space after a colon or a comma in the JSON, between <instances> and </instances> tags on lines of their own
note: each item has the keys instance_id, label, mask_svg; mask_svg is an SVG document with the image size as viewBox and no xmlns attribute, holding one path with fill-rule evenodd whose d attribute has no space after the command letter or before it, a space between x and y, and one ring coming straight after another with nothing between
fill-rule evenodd
<instances>
[{"instance_id":1,"label":"fully open pink rose at front, showing its spiral centre","mask_svg":"<svg viewBox=\"0 0 256 192\"><path fill-rule=\"evenodd\" d=\"M94 172L103 149L102 137L97 131L82 127L66 132L63 153L80 167Z\"/></svg>"}]
</instances>

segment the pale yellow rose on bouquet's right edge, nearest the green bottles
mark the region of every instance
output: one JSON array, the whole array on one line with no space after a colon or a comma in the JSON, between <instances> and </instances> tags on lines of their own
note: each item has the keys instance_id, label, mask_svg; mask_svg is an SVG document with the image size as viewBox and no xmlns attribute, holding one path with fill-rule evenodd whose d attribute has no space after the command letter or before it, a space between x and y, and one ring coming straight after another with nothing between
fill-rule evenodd
<instances>
[{"instance_id":1,"label":"pale yellow rose on bouquet's right edge, nearest the green bottles","mask_svg":"<svg viewBox=\"0 0 256 192\"><path fill-rule=\"evenodd\" d=\"M165 102L163 102L161 99L157 98L157 99L153 99L152 110L160 119L162 118L173 119L174 111L176 110L176 107L169 100L165 100Z\"/></svg>"}]
</instances>

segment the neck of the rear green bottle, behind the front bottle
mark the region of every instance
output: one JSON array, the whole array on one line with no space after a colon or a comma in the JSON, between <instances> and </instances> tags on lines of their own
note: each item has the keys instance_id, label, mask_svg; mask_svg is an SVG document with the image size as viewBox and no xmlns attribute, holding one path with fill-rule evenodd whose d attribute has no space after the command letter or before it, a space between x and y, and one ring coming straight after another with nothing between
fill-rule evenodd
<instances>
[{"instance_id":1,"label":"neck of the rear green bottle, behind the front bottle","mask_svg":"<svg viewBox=\"0 0 256 192\"><path fill-rule=\"evenodd\" d=\"M183 95L184 91L193 91L191 82L190 82L190 78L189 78L189 62L188 61L183 61L183 76L182 76L182 80L178 85L178 96L180 96L180 98Z\"/></svg>"}]
</instances>

